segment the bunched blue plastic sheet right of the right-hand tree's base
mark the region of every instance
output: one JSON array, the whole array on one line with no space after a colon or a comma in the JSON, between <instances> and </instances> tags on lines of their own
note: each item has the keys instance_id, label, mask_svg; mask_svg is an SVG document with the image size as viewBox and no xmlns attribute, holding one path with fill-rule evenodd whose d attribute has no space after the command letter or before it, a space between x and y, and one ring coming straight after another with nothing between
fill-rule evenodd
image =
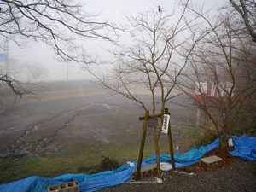
<instances>
[{"instance_id":1,"label":"bunched blue plastic sheet right of the right-hand tree's base","mask_svg":"<svg viewBox=\"0 0 256 192\"><path fill-rule=\"evenodd\" d=\"M236 150L231 151L233 156L242 160L256 160L256 137L232 137Z\"/></svg>"}]
</instances>

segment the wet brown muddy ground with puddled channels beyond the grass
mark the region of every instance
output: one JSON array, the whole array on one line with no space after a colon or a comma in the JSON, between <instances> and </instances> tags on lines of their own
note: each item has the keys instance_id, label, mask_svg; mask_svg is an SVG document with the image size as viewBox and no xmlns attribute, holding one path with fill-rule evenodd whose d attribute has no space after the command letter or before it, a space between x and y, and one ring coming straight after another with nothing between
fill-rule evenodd
<instances>
[{"instance_id":1,"label":"wet brown muddy ground with puddled channels beyond the grass","mask_svg":"<svg viewBox=\"0 0 256 192\"><path fill-rule=\"evenodd\" d=\"M0 89L0 158L66 155L75 146L87 148L88 143L125 142L124 136L133 137L133 144L140 142L143 122L138 117L143 116L143 108L123 96L110 95L89 81L27 88L33 95L16 102L8 89ZM150 96L140 94L149 106ZM167 106L172 125L195 123L195 113L183 117L189 107L178 102L183 103L175 99Z\"/></svg>"}]
</instances>

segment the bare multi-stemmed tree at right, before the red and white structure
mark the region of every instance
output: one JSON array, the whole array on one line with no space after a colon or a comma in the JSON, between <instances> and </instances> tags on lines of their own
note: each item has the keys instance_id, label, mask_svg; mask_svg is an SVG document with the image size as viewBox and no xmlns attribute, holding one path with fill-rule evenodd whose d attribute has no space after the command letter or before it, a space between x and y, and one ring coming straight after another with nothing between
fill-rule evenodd
<instances>
[{"instance_id":1,"label":"bare multi-stemmed tree at right, before the red and white structure","mask_svg":"<svg viewBox=\"0 0 256 192\"><path fill-rule=\"evenodd\" d=\"M195 48L177 86L207 113L225 147L239 114L253 104L256 55L250 41L237 30L234 15L220 14L213 20L191 10L205 20L211 32Z\"/></svg>"}]
</instances>

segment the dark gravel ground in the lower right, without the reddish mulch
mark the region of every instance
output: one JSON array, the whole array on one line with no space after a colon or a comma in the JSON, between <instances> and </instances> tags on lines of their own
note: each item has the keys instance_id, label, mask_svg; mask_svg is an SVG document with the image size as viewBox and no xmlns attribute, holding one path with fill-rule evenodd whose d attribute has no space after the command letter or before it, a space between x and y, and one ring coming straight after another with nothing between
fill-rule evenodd
<instances>
[{"instance_id":1,"label":"dark gravel ground in the lower right, without the reddish mulch","mask_svg":"<svg viewBox=\"0 0 256 192\"><path fill-rule=\"evenodd\" d=\"M112 191L218 191L218 192L256 192L256 162L235 160L231 165L209 172L197 172L193 175L180 172L166 172L164 183L155 183L155 177L143 177L139 182L121 184Z\"/></svg>"}]
</instances>

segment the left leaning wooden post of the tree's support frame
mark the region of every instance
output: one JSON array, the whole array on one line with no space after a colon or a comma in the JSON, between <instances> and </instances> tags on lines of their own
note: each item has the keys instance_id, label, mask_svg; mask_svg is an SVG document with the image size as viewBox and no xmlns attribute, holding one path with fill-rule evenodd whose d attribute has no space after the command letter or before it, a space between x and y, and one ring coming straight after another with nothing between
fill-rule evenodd
<instances>
[{"instance_id":1,"label":"left leaning wooden post of the tree's support frame","mask_svg":"<svg viewBox=\"0 0 256 192\"><path fill-rule=\"evenodd\" d=\"M136 181L140 179L141 176L141 167L143 163L143 151L144 151L144 145L146 140L146 133L147 133L147 127L148 127L148 111L145 111L145 117L144 117L144 123L143 123L143 137L142 137L142 143L140 147L140 153L139 153L139 159L137 163L137 172L136 172Z\"/></svg>"}]
</instances>

